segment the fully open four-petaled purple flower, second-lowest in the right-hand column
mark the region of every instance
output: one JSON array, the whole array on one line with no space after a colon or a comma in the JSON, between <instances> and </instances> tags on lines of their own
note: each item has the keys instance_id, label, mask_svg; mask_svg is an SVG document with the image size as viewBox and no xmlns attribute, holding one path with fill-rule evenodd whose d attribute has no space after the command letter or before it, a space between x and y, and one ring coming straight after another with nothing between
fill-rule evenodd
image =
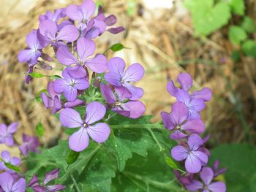
<instances>
[{"instance_id":1,"label":"fully open four-petaled purple flower, second-lowest in the right-hand column","mask_svg":"<svg viewBox=\"0 0 256 192\"><path fill-rule=\"evenodd\" d=\"M173 147L171 155L176 161L185 160L185 168L189 173L200 172L202 165L207 164L208 155L199 150L203 139L197 134L191 134L187 140L188 147L178 145Z\"/></svg>"}]
</instances>

